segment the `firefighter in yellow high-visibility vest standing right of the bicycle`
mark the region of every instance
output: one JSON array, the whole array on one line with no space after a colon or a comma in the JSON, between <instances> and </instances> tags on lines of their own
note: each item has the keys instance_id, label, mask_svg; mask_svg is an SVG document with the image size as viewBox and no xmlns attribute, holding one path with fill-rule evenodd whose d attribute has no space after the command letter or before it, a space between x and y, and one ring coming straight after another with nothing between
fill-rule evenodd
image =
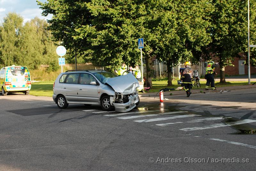
<instances>
[{"instance_id":1,"label":"firefighter in yellow high-visibility vest standing right of the bicycle","mask_svg":"<svg viewBox=\"0 0 256 171\"><path fill-rule=\"evenodd\" d=\"M211 84L211 90L215 90L215 85L214 85L214 74L215 72L215 64L213 61L210 61L207 63L206 67L206 72L204 75L204 78L206 79L206 84L205 84L205 90L209 90L209 86Z\"/></svg>"}]
</instances>

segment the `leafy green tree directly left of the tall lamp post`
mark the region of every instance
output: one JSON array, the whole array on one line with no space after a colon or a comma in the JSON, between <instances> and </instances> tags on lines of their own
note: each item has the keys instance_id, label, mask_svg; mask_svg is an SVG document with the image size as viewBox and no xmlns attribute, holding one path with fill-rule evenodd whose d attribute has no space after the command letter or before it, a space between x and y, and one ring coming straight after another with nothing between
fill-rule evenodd
<instances>
[{"instance_id":1,"label":"leafy green tree directly left of the tall lamp post","mask_svg":"<svg viewBox=\"0 0 256 171\"><path fill-rule=\"evenodd\" d=\"M213 0L212 5L212 27L208 27L212 42L202 50L206 60L219 58L220 82L224 83L225 66L247 51L247 0Z\"/></svg>"}]
</instances>

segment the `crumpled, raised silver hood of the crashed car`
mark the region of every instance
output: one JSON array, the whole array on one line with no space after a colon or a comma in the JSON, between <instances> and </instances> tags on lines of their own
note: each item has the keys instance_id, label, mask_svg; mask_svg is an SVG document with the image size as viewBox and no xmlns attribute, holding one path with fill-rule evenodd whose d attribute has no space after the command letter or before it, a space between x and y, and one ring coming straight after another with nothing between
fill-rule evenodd
<instances>
[{"instance_id":1,"label":"crumpled, raised silver hood of the crashed car","mask_svg":"<svg viewBox=\"0 0 256 171\"><path fill-rule=\"evenodd\" d=\"M109 78L106 83L121 94L132 94L136 91L137 87L140 87L138 80L132 73Z\"/></svg>"}]
</instances>

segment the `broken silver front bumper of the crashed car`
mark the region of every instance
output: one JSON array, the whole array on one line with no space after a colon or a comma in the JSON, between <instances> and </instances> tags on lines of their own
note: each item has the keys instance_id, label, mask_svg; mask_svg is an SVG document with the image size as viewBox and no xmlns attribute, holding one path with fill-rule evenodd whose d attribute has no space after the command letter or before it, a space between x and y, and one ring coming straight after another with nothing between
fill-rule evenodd
<instances>
[{"instance_id":1,"label":"broken silver front bumper of the crashed car","mask_svg":"<svg viewBox=\"0 0 256 171\"><path fill-rule=\"evenodd\" d=\"M136 103L139 102L139 95L135 94L130 96L127 103L113 103L116 112L128 112L136 107Z\"/></svg>"}]
</instances>

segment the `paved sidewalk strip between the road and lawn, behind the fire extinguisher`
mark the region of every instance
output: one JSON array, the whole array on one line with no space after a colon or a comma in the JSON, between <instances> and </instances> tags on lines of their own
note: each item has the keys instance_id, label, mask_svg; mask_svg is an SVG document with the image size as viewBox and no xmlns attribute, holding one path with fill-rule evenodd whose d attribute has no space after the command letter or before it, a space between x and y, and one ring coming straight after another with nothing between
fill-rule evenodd
<instances>
[{"instance_id":1,"label":"paved sidewalk strip between the road and lawn, behind the fire extinguisher","mask_svg":"<svg viewBox=\"0 0 256 171\"><path fill-rule=\"evenodd\" d=\"M205 90L204 88L201 88L201 89L191 89L191 92L193 94L196 94L196 93L201 93L200 91L203 91L203 92L217 92L217 91L220 91L220 90L236 90L236 89L255 89L256 88L256 84L254 85L241 85L241 86L226 86L226 87L217 87L216 90ZM185 95L185 91L182 89L182 90L172 90L172 91L164 91L164 96L170 96L170 94L172 93L172 96L175 96L175 95ZM151 93L151 92L148 92L148 93L139 93L139 97L155 97L156 96L156 92L154 93ZM157 94L156 97L159 97L159 93Z\"/></svg>"}]
</instances>

